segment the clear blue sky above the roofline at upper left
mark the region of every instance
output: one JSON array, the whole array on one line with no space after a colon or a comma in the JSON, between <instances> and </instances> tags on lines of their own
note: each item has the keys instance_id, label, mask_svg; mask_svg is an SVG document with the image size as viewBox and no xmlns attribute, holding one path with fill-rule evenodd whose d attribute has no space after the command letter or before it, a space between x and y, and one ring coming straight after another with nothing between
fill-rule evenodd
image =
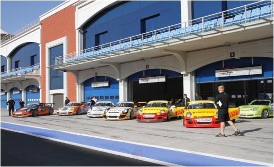
<instances>
[{"instance_id":1,"label":"clear blue sky above the roofline at upper left","mask_svg":"<svg viewBox=\"0 0 274 167\"><path fill-rule=\"evenodd\" d=\"M14 33L63 2L64 0L0 0L0 26L6 32Z\"/></svg>"}]
</instances>

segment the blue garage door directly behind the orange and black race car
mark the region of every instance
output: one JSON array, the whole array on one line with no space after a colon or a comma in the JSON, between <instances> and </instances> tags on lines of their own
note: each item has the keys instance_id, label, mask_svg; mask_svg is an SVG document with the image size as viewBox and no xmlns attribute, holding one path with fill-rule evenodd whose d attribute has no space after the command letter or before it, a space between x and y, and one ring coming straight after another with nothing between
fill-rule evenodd
<instances>
[{"instance_id":1,"label":"blue garage door directly behind the orange and black race car","mask_svg":"<svg viewBox=\"0 0 274 167\"><path fill-rule=\"evenodd\" d=\"M37 90L37 92L36 92ZM30 104L30 103L40 103L40 91L39 91L39 87L35 86L35 85L29 85L26 88L26 101L25 101L25 105L26 104Z\"/></svg>"}]
</instances>

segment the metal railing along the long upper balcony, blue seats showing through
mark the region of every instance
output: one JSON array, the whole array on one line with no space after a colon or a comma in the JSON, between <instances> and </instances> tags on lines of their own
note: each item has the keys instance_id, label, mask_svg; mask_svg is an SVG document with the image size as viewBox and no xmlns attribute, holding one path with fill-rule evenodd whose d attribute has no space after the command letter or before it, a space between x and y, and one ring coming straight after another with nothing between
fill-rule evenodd
<instances>
[{"instance_id":1,"label":"metal railing along the long upper balcony, blue seats showing through","mask_svg":"<svg viewBox=\"0 0 274 167\"><path fill-rule=\"evenodd\" d=\"M67 54L55 58L55 65L61 67L88 60L101 59L131 49L143 49L167 44L172 40L184 41L191 37L202 37L211 32L223 32L232 27L245 28L254 21L270 22L273 24L273 1L259 1L245 6L237 7L213 15L198 18L192 21L179 23L137 36L118 40Z\"/></svg>"}]
</instances>

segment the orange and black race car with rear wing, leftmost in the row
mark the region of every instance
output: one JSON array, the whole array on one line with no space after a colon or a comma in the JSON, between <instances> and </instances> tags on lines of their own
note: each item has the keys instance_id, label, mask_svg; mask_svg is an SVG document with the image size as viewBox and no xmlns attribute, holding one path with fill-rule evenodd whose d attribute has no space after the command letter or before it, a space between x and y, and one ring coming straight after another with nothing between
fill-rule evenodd
<instances>
[{"instance_id":1,"label":"orange and black race car with rear wing, leftmost in the row","mask_svg":"<svg viewBox=\"0 0 274 167\"><path fill-rule=\"evenodd\" d=\"M13 117L35 117L39 115L51 115L54 112L53 103L32 103L18 108L12 113Z\"/></svg>"}]
</instances>

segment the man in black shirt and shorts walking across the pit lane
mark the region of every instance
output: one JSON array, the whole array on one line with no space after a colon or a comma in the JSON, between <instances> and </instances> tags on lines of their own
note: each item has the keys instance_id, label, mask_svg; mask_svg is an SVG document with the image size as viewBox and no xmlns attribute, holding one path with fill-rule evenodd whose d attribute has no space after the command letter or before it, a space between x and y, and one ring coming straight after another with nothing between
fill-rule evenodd
<instances>
[{"instance_id":1,"label":"man in black shirt and shorts walking across the pit lane","mask_svg":"<svg viewBox=\"0 0 274 167\"><path fill-rule=\"evenodd\" d=\"M228 113L229 95L225 92L225 87L223 85L218 86L219 94L215 99L215 104L218 106L218 120L221 124L221 133L215 135L216 137L226 137L225 136L225 122L234 128L235 136L240 134L240 130L235 126L235 124L230 121Z\"/></svg>"}]
</instances>

